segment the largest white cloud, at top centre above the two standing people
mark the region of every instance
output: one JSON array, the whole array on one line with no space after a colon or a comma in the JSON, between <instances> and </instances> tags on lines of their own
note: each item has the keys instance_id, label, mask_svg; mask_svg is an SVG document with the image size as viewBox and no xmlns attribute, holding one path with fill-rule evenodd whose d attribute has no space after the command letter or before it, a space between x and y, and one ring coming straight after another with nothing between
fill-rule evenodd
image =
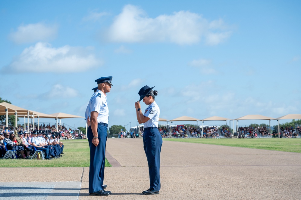
<instances>
[{"instance_id":1,"label":"largest white cloud, at top centre above the two standing people","mask_svg":"<svg viewBox=\"0 0 301 200\"><path fill-rule=\"evenodd\" d=\"M189 11L150 18L134 5L124 6L106 33L111 42L171 42L180 45L198 43L201 39L208 45L217 45L230 35L231 31L221 19L209 22Z\"/></svg>"}]
</instances>

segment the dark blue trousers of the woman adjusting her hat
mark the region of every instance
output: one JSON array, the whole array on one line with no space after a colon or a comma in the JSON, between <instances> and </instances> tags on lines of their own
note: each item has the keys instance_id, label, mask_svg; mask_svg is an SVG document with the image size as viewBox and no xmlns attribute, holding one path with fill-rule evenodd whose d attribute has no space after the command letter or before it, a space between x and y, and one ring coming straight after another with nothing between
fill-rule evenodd
<instances>
[{"instance_id":1,"label":"dark blue trousers of the woman adjusting her hat","mask_svg":"<svg viewBox=\"0 0 301 200\"><path fill-rule=\"evenodd\" d=\"M149 164L149 189L160 190L160 153L162 137L157 128L145 130L143 148Z\"/></svg>"}]
</instances>

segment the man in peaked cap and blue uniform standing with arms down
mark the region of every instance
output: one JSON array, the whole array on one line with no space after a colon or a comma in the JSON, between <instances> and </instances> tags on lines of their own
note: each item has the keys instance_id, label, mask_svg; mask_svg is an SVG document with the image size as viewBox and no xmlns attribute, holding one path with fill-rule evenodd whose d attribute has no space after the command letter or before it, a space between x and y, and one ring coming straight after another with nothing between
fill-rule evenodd
<instances>
[{"instance_id":1,"label":"man in peaked cap and blue uniform standing with arms down","mask_svg":"<svg viewBox=\"0 0 301 200\"><path fill-rule=\"evenodd\" d=\"M91 125L87 134L90 146L89 193L90 195L108 196L111 192L104 190L103 178L109 120L106 93L111 91L112 76L101 77L95 82L97 82L98 89L89 101Z\"/></svg>"}]
</instances>

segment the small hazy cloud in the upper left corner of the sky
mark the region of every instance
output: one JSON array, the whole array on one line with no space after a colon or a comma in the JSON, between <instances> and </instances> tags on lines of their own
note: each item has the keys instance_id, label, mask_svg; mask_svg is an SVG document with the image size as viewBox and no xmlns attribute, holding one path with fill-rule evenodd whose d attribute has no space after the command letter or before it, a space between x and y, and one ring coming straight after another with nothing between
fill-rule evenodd
<instances>
[{"instance_id":1,"label":"small hazy cloud in the upper left corner of the sky","mask_svg":"<svg viewBox=\"0 0 301 200\"><path fill-rule=\"evenodd\" d=\"M44 23L21 25L16 32L12 32L8 37L17 44L49 41L56 37L58 25L46 25Z\"/></svg>"}]
</instances>

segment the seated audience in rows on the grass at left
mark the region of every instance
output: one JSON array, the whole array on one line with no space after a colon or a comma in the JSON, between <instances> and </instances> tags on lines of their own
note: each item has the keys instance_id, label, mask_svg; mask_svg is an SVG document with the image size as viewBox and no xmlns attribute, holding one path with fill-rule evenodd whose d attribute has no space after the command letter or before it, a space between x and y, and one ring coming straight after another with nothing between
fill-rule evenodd
<instances>
[{"instance_id":1,"label":"seated audience in rows on the grass at left","mask_svg":"<svg viewBox=\"0 0 301 200\"><path fill-rule=\"evenodd\" d=\"M22 127L14 130L0 128L0 158L8 150L14 151L17 158L29 159L36 150L41 150L46 159L60 158L64 145L60 141L60 132L46 130L33 130L27 132Z\"/></svg>"}]
</instances>

